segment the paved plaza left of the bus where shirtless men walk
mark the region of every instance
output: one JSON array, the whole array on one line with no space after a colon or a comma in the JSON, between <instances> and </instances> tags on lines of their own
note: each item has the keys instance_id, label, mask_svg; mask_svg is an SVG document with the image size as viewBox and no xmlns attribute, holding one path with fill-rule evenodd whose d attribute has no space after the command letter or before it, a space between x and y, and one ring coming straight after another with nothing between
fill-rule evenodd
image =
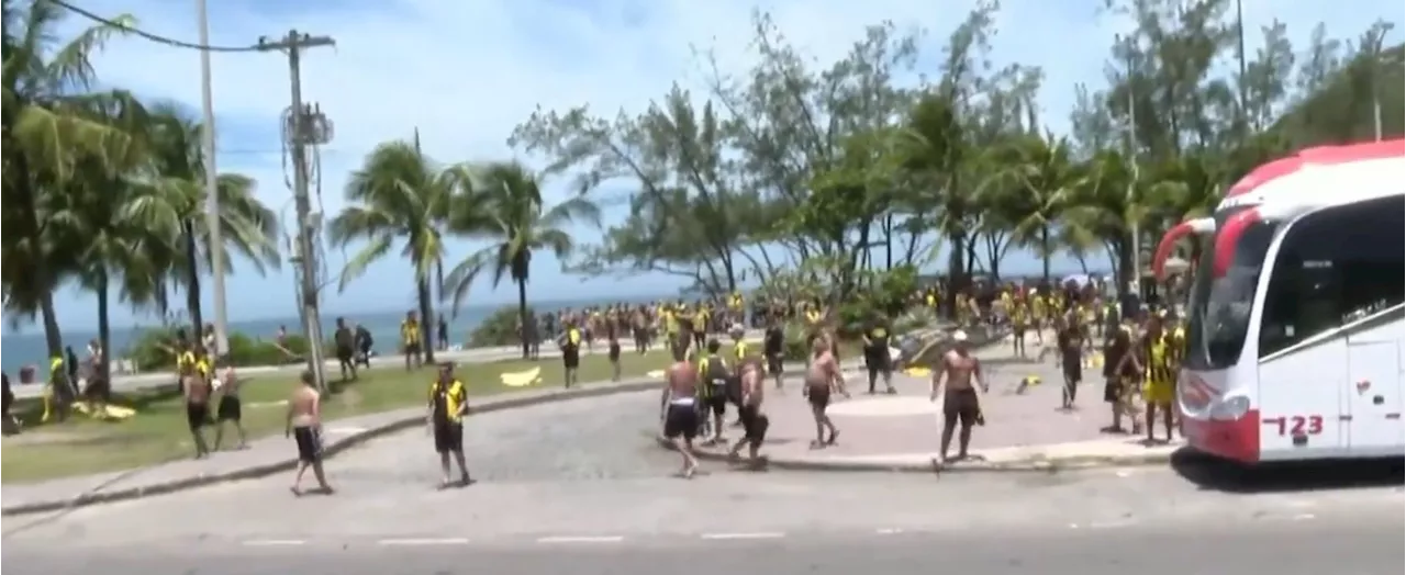
<instances>
[{"instance_id":1,"label":"paved plaza left of the bus where shirtless men walk","mask_svg":"<svg viewBox=\"0 0 1406 575\"><path fill-rule=\"evenodd\" d=\"M1046 342L1052 337L1046 335ZM986 425L974 429L972 458L939 465L938 447L942 402L929 401L929 378L894 375L897 395L868 394L863 373L846 374L852 399L837 396L830 416L839 429L835 446L811 448L815 425L801 398L799 381L787 381L785 394L768 389L765 412L770 429L762 453L778 468L834 471L1019 471L1090 465L1166 463L1180 443L1144 444L1140 437L1109 434L1111 409L1102 399L1101 367L1085 366L1077 409L1060 411L1063 375L1053 356L1036 363L1039 347L1028 340L1032 360L1018 360L1010 339L977 351L991 391L981 396ZM1039 385L1017 394L1021 380L1038 377ZM1129 426L1128 422L1123 423ZM737 437L741 429L728 429ZM1159 432L1160 436L1160 432ZM957 451L953 437L949 454ZM717 460L721 447L702 447L700 456Z\"/></svg>"}]
</instances>

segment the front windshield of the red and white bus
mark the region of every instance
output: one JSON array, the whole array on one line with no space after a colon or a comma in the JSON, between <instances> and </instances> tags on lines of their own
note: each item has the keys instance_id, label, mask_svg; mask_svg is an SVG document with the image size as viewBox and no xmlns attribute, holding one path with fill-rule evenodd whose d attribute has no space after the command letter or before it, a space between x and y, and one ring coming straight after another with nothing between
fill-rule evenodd
<instances>
[{"instance_id":1,"label":"front windshield of the red and white bus","mask_svg":"<svg viewBox=\"0 0 1406 575\"><path fill-rule=\"evenodd\" d=\"M1241 209L1249 208L1216 214L1216 228L1220 229L1229 217ZM1211 253L1215 236L1198 238L1202 242L1202 256L1197 264L1191 301L1187 306L1187 367L1223 370L1239 361L1240 350L1250 333L1254 291L1260 284L1260 273L1274 231L1275 224L1263 221L1244 228L1236 240L1230 267L1220 277L1215 277L1215 257Z\"/></svg>"}]
</instances>

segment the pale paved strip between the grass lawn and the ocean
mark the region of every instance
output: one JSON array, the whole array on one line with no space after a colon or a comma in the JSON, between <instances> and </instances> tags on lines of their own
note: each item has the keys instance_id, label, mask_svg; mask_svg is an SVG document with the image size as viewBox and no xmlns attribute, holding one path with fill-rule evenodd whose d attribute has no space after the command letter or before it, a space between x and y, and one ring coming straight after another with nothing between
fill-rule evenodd
<instances>
[{"instance_id":1,"label":"pale paved strip between the grass lawn and the ocean","mask_svg":"<svg viewBox=\"0 0 1406 575\"><path fill-rule=\"evenodd\" d=\"M761 342L762 333L758 330L747 332L745 339L749 343ZM548 349L550 347L550 349ZM655 349L662 350L664 346L655 346ZM596 353L605 354L606 349L603 344L596 346ZM499 346L499 347L472 347L463 349L457 351L434 351L434 358L439 361L450 360L458 363L495 363L508 361L522 357L520 346ZM561 357L561 351L555 349L555 344L548 342L543 344L540 357ZM371 358L371 367L394 367L404 364L405 358L402 356L377 356ZM242 375L267 375L267 374L297 374L307 366L305 363L291 363L284 366L249 366L240 367L239 373ZM337 361L329 360L325 363L328 370L336 370ZM141 389L157 389L163 387L174 387L176 375L174 371L152 371L135 375L117 375L112 378L114 392L132 392ZM25 384L14 385L14 395L18 399L32 399L44 395L42 384Z\"/></svg>"}]
</instances>

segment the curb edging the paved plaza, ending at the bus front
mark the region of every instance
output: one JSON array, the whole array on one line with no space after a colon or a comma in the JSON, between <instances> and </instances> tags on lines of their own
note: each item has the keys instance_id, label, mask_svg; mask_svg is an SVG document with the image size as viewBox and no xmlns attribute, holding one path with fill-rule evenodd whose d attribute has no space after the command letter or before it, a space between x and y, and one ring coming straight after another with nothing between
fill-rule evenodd
<instances>
[{"instance_id":1,"label":"curb edging the paved plaza, ending at the bus front","mask_svg":"<svg viewBox=\"0 0 1406 575\"><path fill-rule=\"evenodd\" d=\"M673 444L664 437L655 437L659 447L675 451ZM876 461L824 461L796 457L766 457L766 467L785 471L815 471L815 472L889 472L889 474L970 474L970 472L1045 472L1057 474L1062 471L1097 470L1105 467L1139 467L1161 465L1177 457L1177 453L1149 453L1136 456L1070 456L1070 457L1031 457L1017 461L973 461L956 467L942 468L934 463L905 463L884 464ZM727 463L727 456L714 451L695 450L700 461ZM765 457L765 456L763 456Z\"/></svg>"}]
</instances>

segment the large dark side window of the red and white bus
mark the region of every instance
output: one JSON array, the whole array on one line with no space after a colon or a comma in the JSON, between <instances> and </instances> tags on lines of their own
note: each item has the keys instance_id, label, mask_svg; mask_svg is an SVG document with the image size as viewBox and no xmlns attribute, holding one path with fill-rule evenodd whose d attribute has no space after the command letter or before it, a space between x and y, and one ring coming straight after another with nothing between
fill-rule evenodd
<instances>
[{"instance_id":1,"label":"large dark side window of the red and white bus","mask_svg":"<svg viewBox=\"0 0 1406 575\"><path fill-rule=\"evenodd\" d=\"M1389 197L1294 224L1270 277L1261 357L1406 301L1403 218L1406 202Z\"/></svg>"}]
</instances>

